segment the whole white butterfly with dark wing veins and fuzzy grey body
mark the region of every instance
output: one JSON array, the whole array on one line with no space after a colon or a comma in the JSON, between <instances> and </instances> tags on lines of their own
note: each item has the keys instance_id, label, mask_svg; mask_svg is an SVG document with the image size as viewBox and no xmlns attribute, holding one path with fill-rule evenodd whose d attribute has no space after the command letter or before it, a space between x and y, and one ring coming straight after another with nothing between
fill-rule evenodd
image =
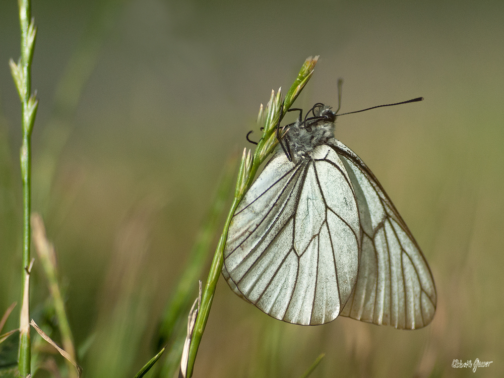
<instances>
[{"instance_id":1,"label":"whole white butterfly with dark wing veins and fuzzy grey body","mask_svg":"<svg viewBox=\"0 0 504 378\"><path fill-rule=\"evenodd\" d=\"M291 110L299 118L277 131L281 148L231 219L222 268L229 286L294 324L344 316L428 325L436 308L430 268L380 182L334 138L337 111L317 103L302 118Z\"/></svg>"}]
</instances>

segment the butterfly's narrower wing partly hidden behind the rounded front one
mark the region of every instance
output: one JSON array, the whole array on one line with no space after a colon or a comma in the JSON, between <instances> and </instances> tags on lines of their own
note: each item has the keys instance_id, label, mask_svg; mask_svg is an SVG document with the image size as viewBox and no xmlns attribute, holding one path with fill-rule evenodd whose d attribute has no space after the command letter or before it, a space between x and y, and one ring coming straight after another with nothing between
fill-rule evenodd
<instances>
[{"instance_id":1,"label":"butterfly's narrower wing partly hidden behind the rounded front one","mask_svg":"<svg viewBox=\"0 0 504 378\"><path fill-rule=\"evenodd\" d=\"M399 329L426 326L436 290L420 247L364 162L340 141L328 144L349 173L362 227L357 283L341 315Z\"/></svg>"}]
</instances>

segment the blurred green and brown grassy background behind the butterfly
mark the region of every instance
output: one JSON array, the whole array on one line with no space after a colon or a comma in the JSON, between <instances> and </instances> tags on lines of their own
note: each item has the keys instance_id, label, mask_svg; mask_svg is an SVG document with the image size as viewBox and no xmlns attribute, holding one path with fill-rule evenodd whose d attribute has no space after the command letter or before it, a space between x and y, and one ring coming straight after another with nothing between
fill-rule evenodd
<instances>
[{"instance_id":1,"label":"blurred green and brown grassy background behind the butterfly","mask_svg":"<svg viewBox=\"0 0 504 378\"><path fill-rule=\"evenodd\" d=\"M19 56L17 4L0 9L3 312L20 298L22 200L8 68ZM316 54L297 107L337 106L340 77L342 112L425 97L341 117L336 135L422 247L436 316L413 332L348 319L294 326L221 280L195 377L296 377L322 352L314 377L504 376L503 13L501 2L470 1L33 2L32 206L58 253L85 376L133 376L154 355L222 167L250 147L245 134L271 89L286 90ZM36 318L48 291L37 263L34 272ZM476 358L494 362L451 367Z\"/></svg>"}]
</instances>

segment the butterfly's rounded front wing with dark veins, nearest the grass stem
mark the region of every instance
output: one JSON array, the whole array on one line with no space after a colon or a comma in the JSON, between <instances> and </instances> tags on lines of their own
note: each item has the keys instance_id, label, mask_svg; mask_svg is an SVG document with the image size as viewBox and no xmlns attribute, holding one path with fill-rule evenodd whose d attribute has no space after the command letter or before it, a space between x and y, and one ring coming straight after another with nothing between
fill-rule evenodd
<instances>
[{"instance_id":1,"label":"butterfly's rounded front wing with dark veins, nearest the grass stem","mask_svg":"<svg viewBox=\"0 0 504 378\"><path fill-rule=\"evenodd\" d=\"M276 154L231 220L222 273L270 316L316 325L334 320L359 267L357 199L329 146L295 165Z\"/></svg>"}]
</instances>

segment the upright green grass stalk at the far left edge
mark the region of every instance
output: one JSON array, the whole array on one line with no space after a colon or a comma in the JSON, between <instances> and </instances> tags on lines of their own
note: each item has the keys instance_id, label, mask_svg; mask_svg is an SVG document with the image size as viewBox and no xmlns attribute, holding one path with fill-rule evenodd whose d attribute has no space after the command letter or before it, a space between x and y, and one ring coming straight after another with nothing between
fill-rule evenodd
<instances>
[{"instance_id":1,"label":"upright green grass stalk at the far left edge","mask_svg":"<svg viewBox=\"0 0 504 378\"><path fill-rule=\"evenodd\" d=\"M31 95L31 60L37 34L33 20L30 21L29 0L18 0L19 21L21 26L21 57L16 64L10 60L11 73L18 89L22 107L23 143L21 145L21 176L23 181L23 282L22 304L19 324L18 369L21 375L31 373L30 368L30 173L31 147L30 139L37 113L38 101Z\"/></svg>"}]
</instances>

